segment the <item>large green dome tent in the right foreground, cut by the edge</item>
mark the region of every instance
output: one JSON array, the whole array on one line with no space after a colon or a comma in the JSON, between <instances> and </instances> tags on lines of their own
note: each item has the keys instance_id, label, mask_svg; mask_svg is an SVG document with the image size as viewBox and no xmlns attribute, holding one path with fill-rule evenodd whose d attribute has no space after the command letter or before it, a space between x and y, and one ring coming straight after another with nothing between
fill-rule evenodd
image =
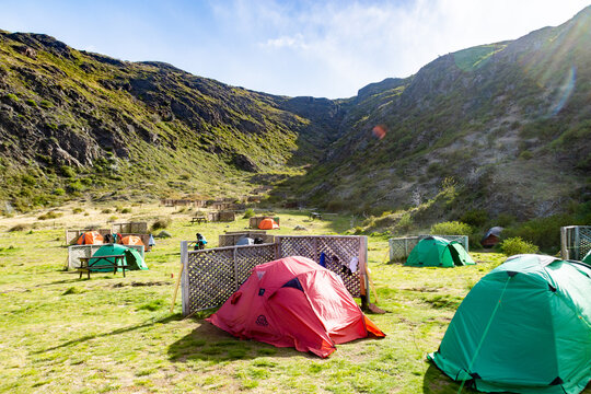
<instances>
[{"instance_id":1,"label":"large green dome tent in the right foreground, cut by the edge","mask_svg":"<svg viewBox=\"0 0 591 394\"><path fill-rule=\"evenodd\" d=\"M591 380L589 294L591 266L513 256L476 283L428 358L483 392L580 393Z\"/></svg>"}]
</instances>

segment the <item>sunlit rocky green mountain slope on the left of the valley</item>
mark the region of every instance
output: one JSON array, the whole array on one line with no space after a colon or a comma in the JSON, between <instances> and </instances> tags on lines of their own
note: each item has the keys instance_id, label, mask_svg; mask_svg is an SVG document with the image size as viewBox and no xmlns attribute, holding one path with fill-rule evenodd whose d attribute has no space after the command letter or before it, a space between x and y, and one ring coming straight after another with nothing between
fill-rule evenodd
<instances>
[{"instance_id":1,"label":"sunlit rocky green mountain slope on the left of the valley","mask_svg":"<svg viewBox=\"0 0 591 394\"><path fill-rule=\"evenodd\" d=\"M0 31L0 202L26 210L71 196L241 197L316 162L341 112Z\"/></svg>"}]
</instances>

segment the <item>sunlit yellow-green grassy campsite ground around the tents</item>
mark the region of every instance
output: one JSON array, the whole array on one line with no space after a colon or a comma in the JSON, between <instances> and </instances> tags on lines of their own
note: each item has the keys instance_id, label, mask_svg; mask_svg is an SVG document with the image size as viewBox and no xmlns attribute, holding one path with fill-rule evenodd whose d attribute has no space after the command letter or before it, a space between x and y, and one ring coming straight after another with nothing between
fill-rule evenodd
<instances>
[{"instance_id":1,"label":"sunlit yellow-green grassy campsite ground around the tents","mask_svg":"<svg viewBox=\"0 0 591 394\"><path fill-rule=\"evenodd\" d=\"M183 320L181 302L170 313L179 268L179 241L201 232L217 245L233 223L189 224L193 211L130 206L123 220L170 217L172 239L147 254L148 271L63 271L63 229L105 224L105 208L59 209L58 218L0 219L0 392L13 393L455 393L459 385L426 361L438 348L463 297L502 256L474 253L476 266L405 268L387 264L387 240L370 236L369 257L379 296L389 313L371 315L387 337L339 345L328 359L294 349L237 340L204 321ZM281 230L343 233L357 225L346 217L310 221L279 211ZM59 216L61 215L61 216ZM20 225L20 231L14 230ZM464 393L471 393L465 389ZM586 393L591 392L587 389Z\"/></svg>"}]
</instances>

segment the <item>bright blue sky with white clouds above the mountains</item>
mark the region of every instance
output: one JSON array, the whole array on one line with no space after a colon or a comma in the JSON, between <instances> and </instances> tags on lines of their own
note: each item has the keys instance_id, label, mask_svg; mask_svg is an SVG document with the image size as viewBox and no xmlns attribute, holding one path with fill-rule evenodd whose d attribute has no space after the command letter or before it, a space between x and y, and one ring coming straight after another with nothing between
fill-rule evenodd
<instances>
[{"instance_id":1,"label":"bright blue sky with white clouds above the mountains","mask_svg":"<svg viewBox=\"0 0 591 394\"><path fill-rule=\"evenodd\" d=\"M0 28L282 95L349 97L439 55L558 25L590 0L0 0Z\"/></svg>"}]
</instances>

